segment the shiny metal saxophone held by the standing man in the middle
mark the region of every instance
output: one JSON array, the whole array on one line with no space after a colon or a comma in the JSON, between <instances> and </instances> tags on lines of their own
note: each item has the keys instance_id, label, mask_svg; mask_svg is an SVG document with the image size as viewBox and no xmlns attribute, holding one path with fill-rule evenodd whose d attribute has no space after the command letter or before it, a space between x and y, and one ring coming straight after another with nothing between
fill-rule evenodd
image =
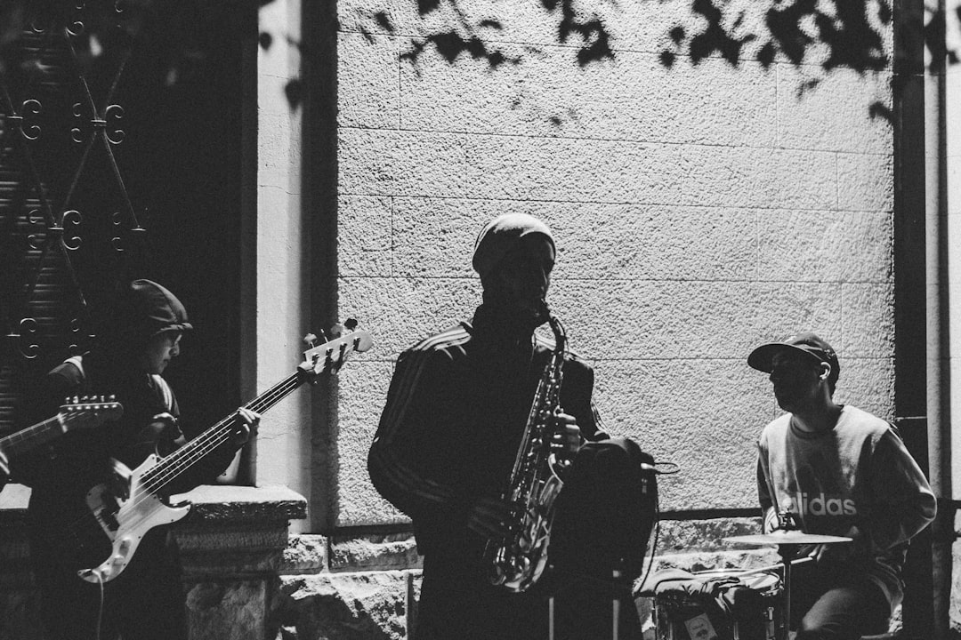
<instances>
[{"instance_id":1,"label":"shiny metal saxophone held by the standing man in the middle","mask_svg":"<svg viewBox=\"0 0 961 640\"><path fill-rule=\"evenodd\" d=\"M546 302L543 313L554 332L555 345L534 392L514 467L502 494L511 505L509 533L504 538L489 539L483 555L491 584L513 593L528 590L547 566L554 500L564 485L560 475L568 463L558 460L551 451L554 414L560 411L561 367L567 335Z\"/></svg>"}]
</instances>

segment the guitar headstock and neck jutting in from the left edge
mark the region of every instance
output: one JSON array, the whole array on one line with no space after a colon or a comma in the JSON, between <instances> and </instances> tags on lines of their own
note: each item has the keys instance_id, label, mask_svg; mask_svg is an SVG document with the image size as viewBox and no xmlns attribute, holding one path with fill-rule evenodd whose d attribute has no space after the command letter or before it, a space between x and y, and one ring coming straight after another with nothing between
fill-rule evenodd
<instances>
[{"instance_id":1,"label":"guitar headstock and neck jutting in from the left edge","mask_svg":"<svg viewBox=\"0 0 961 640\"><path fill-rule=\"evenodd\" d=\"M113 401L113 396L84 396L67 398L60 413L21 429L5 438L0 438L0 453L8 460L13 456L57 439L75 429L93 429L108 420L123 415L123 406Z\"/></svg>"}]
</instances>

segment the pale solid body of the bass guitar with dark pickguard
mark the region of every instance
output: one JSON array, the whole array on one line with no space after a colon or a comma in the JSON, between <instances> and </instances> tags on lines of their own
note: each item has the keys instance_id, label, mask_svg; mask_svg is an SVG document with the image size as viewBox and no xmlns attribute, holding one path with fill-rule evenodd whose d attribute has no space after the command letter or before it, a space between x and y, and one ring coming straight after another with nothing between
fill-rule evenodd
<instances>
[{"instance_id":1,"label":"pale solid body of the bass guitar with dark pickguard","mask_svg":"<svg viewBox=\"0 0 961 640\"><path fill-rule=\"evenodd\" d=\"M154 527L177 522L190 505L171 506L141 484L143 475L160 461L151 455L134 469L130 478L130 498L115 497L105 485L86 493L86 505L111 540L111 554L98 566L81 569L77 575L87 582L109 582L120 575L136 553L143 536Z\"/></svg>"}]
</instances>

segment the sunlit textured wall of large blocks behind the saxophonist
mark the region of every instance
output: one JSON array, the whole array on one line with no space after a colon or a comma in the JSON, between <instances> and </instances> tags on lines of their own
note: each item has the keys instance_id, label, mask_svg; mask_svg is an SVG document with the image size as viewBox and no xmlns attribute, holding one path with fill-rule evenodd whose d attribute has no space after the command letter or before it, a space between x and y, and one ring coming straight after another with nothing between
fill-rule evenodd
<instances>
[{"instance_id":1,"label":"sunlit textured wall of large blocks behind the saxophonist","mask_svg":"<svg viewBox=\"0 0 961 640\"><path fill-rule=\"evenodd\" d=\"M540 3L458 4L500 20L481 34L521 63L430 46L413 63L411 42L456 26L446 4L339 2L340 308L377 339L341 373L341 525L403 519L365 470L393 361L469 317L472 242L507 211L554 228L549 300L608 426L680 463L662 508L755 505L753 442L777 414L755 344L817 331L839 399L892 415L892 130L869 116L887 72L765 69L750 47L668 69L668 30L702 28L679 1L602 7L615 58L581 67Z\"/></svg>"}]
</instances>

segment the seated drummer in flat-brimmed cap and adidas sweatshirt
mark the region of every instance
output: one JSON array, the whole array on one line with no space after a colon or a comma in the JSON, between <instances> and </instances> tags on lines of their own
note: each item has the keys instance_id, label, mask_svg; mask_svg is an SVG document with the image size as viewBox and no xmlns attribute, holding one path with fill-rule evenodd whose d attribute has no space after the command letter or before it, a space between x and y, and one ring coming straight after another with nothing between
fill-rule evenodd
<instances>
[{"instance_id":1,"label":"seated drummer in flat-brimmed cap and adidas sweatshirt","mask_svg":"<svg viewBox=\"0 0 961 640\"><path fill-rule=\"evenodd\" d=\"M786 511L804 533L853 538L805 550L815 561L793 573L797 640L857 640L887 631L903 596L908 543L935 516L924 472L894 426L834 402L841 367L818 336L763 344L748 364L771 374L777 404L788 412L758 440L765 532Z\"/></svg>"}]
</instances>

